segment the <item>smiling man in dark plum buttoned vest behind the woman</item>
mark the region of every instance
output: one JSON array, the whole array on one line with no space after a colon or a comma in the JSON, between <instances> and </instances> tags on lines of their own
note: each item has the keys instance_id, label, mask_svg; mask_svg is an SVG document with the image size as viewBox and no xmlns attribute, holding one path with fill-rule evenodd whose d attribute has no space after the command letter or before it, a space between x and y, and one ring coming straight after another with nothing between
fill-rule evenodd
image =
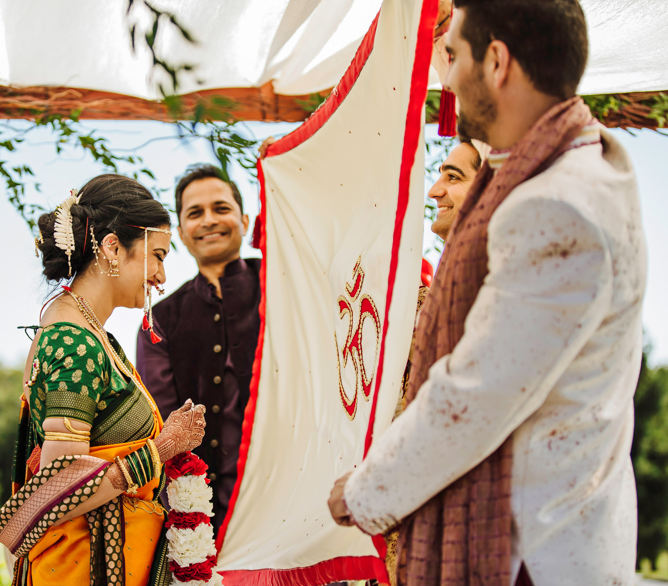
<instances>
[{"instance_id":1,"label":"smiling man in dark plum buttoned vest behind the woman","mask_svg":"<svg viewBox=\"0 0 668 586\"><path fill-rule=\"evenodd\" d=\"M209 467L217 530L236 480L260 327L260 259L240 257L248 216L218 168L189 167L175 196L178 234L199 273L153 308L163 341L152 344L139 332L137 370L163 417L187 398L206 406L206 435L194 451Z\"/></svg>"}]
</instances>

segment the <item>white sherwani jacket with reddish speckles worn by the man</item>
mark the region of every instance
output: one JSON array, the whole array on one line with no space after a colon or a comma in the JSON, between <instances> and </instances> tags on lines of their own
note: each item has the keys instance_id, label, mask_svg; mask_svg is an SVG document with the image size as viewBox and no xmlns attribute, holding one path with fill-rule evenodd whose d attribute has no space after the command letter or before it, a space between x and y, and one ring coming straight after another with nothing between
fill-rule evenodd
<instances>
[{"instance_id":1,"label":"white sherwani jacket with reddish speckles worn by the man","mask_svg":"<svg viewBox=\"0 0 668 586\"><path fill-rule=\"evenodd\" d=\"M645 239L631 162L601 134L494 212L464 337L345 486L369 533L512 434L513 577L524 561L535 586L633 583Z\"/></svg>"}]
</instances>

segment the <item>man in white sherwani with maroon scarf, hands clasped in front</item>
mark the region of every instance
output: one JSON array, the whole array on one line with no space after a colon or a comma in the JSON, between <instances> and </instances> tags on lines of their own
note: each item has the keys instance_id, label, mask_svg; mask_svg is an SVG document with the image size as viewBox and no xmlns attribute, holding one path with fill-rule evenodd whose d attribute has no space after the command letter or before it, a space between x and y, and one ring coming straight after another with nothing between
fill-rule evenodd
<instances>
[{"instance_id":1,"label":"man in white sherwani with maroon scarf, hands clasped in front","mask_svg":"<svg viewBox=\"0 0 668 586\"><path fill-rule=\"evenodd\" d=\"M446 85L493 148L422 307L406 410L337 480L399 526L398 581L630 585L645 239L631 162L575 96L577 0L456 0Z\"/></svg>"}]
</instances>

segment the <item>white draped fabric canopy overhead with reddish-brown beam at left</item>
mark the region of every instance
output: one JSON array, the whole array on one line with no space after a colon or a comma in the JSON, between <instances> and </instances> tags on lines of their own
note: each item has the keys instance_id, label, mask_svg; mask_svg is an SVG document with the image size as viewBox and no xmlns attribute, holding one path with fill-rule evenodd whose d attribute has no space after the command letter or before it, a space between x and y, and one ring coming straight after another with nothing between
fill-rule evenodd
<instances>
[{"instance_id":1,"label":"white draped fabric canopy overhead with reddish-brown beam at left","mask_svg":"<svg viewBox=\"0 0 668 586\"><path fill-rule=\"evenodd\" d=\"M638 117L633 104L647 98L637 92L668 90L668 3L581 3L591 51L579 92L633 92L633 120ZM169 112L156 102L158 86L170 90L172 84L153 67L155 57L175 69L193 66L178 76L176 93L188 96L186 104L223 95L234 100L234 114L244 120L303 120L313 110L309 96L327 95L339 82L380 5L380 0L71 0L66 5L2 0L0 116L81 110L81 118L164 120ZM154 35L156 11L165 15ZM170 23L170 15L194 43ZM440 89L434 69L429 87ZM622 120L611 116L609 124ZM635 125L655 124L650 118Z\"/></svg>"}]
</instances>

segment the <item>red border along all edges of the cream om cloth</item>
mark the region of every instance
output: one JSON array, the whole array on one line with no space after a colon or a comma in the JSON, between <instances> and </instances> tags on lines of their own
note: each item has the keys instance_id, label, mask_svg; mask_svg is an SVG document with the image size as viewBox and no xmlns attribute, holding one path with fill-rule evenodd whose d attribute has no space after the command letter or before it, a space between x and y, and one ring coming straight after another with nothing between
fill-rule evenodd
<instances>
[{"instance_id":1,"label":"red border along all edges of the cream om cloth","mask_svg":"<svg viewBox=\"0 0 668 586\"><path fill-rule=\"evenodd\" d=\"M362 42L353 57L353 61L343 74L343 78L332 90L330 96L324 104L313 113L313 115L302 124L297 130L294 130L287 136L278 140L267 149L267 157L277 156L288 152L299 144L305 142L315 134L334 114L341 105L351 88L357 81L361 70L363 69L375 40L375 32L378 25L378 13L371 23L371 27L362 39ZM411 74L411 90L409 94L409 103L406 114L406 125L403 136L403 150L401 152L401 168L399 171L399 193L397 200L397 213L395 216L395 225L392 241L391 259L389 265L389 275L387 277L387 299L385 303L385 321L383 334L381 337L380 358L376 376L375 394L371 404L371 415L369 417L369 426L365 438L364 454L366 456L371 440L373 439L373 424L375 422L375 411L377 406L377 396L380 387L380 381L383 373L383 358L385 353L385 336L387 334L389 307L392 301L394 290L394 281L399 262L399 244L401 243L401 231L403 229L403 220L408 206L409 185L411 169L415 162L415 151L418 148L422 121L422 110L427 96L429 66L432 57L432 37L434 34L434 23L438 16L438 1L423 0L422 11L420 13L420 23L418 23L418 35L415 45L415 58L413 60L413 72ZM216 552L219 553L224 543L227 527L230 523L234 505L238 498L240 484L246 467L248 458L248 448L251 445L251 433L253 432L253 422L255 420L255 408L257 406L257 392L260 382L260 371L262 364L262 354L265 340L265 317L267 306L267 221L266 221L266 194L265 194L265 176L262 170L261 161L258 161L258 180L260 183L260 204L262 235L260 239L260 250L262 252L262 265L260 269L260 289L261 301L259 307L260 315L260 333L258 345L255 351L255 361L253 362L253 378L251 380L250 398L244 412L244 422L242 425L242 437L239 448L239 459L237 461L237 478L234 484L232 496L228 506L225 519L218 530L216 537ZM229 586L248 585L248 586L311 586L313 584L330 583L339 580L363 580L376 578L380 583L389 583L387 569L385 568L385 542L380 535L373 538L373 543L380 557L360 556L360 557L337 557L317 563L306 568L293 569L259 569L259 570L232 570L221 571L226 584Z\"/></svg>"}]
</instances>

